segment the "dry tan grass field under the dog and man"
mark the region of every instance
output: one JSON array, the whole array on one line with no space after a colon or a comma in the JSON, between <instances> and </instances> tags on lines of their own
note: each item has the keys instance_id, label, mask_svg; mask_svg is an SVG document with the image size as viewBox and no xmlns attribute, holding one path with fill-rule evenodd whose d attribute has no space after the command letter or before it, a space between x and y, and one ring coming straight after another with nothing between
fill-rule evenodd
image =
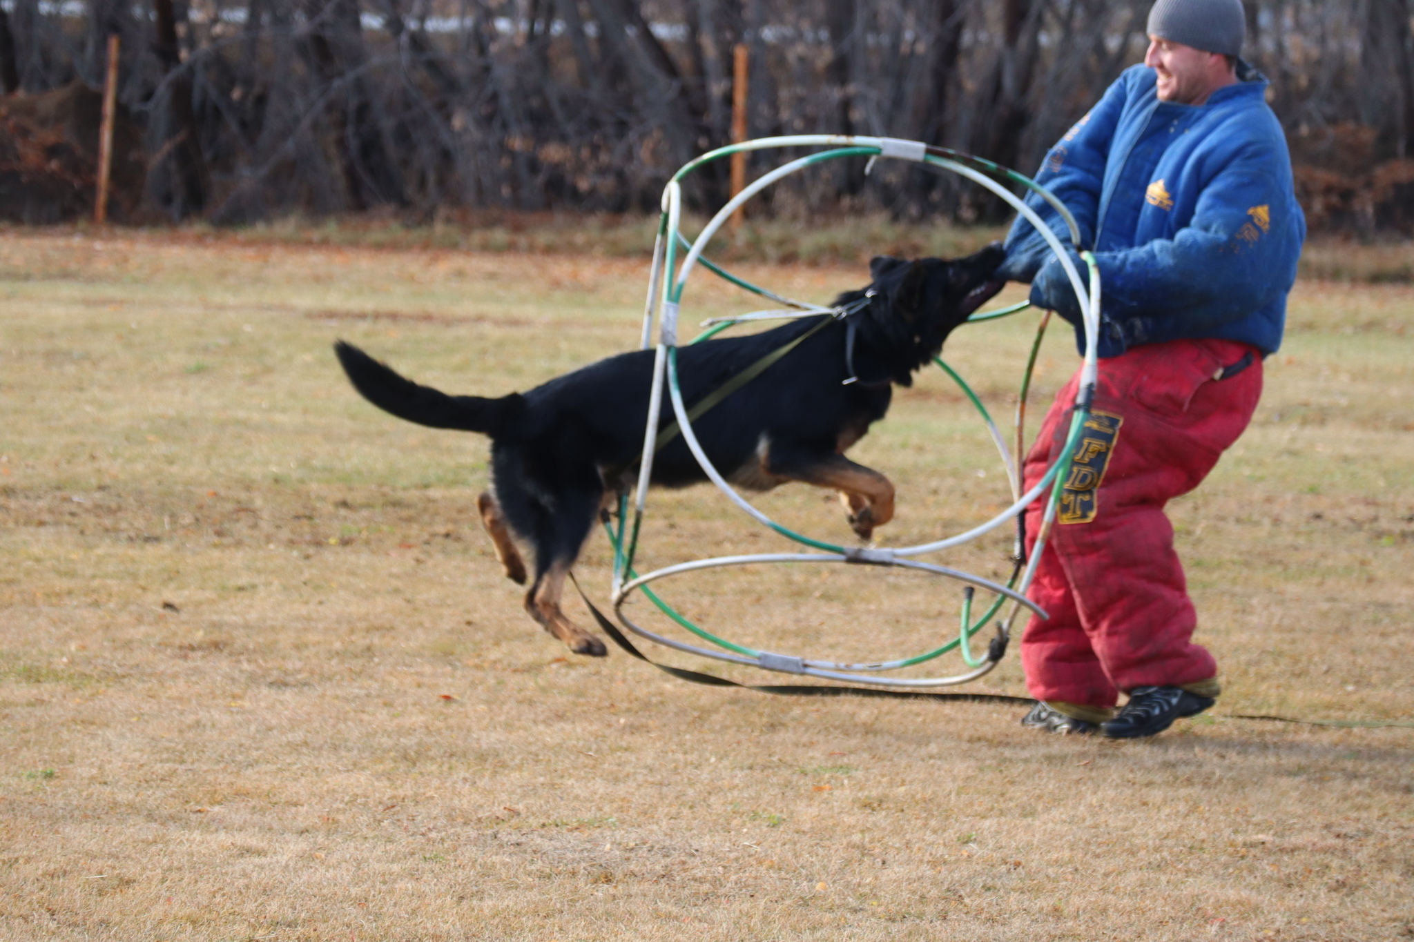
<instances>
[{"instance_id":1,"label":"dry tan grass field under the dog and man","mask_svg":"<svg viewBox=\"0 0 1414 942\"><path fill-rule=\"evenodd\" d=\"M1414 730L1223 719L1414 717L1414 290L1298 287L1253 427L1172 506L1226 692L1106 743L693 686L530 623L475 518L485 441L378 412L329 343L526 388L635 343L645 268L0 232L0 939L1414 936ZM745 271L819 299L863 278ZM707 280L687 301L749 309ZM950 345L1000 418L1032 323ZM1044 398L1073 350L1049 338ZM1005 499L937 371L854 453L899 486L888 542ZM650 506L645 566L785 545L710 489ZM762 506L848 537L812 489ZM608 559L597 535L600 599ZM959 604L853 568L663 593L851 657L923 650ZM974 689L1022 693L1015 654Z\"/></svg>"}]
</instances>

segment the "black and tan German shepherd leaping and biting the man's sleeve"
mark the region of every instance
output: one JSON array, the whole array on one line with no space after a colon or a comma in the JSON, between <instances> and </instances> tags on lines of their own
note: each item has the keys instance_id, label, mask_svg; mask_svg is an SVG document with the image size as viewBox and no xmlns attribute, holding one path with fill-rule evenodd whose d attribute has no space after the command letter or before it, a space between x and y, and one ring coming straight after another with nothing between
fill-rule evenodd
<instances>
[{"instance_id":1,"label":"black and tan German shepherd leaping and biting the man's sleeve","mask_svg":"<svg viewBox=\"0 0 1414 942\"><path fill-rule=\"evenodd\" d=\"M870 539L894 517L894 484L844 452L884 418L892 384L911 386L913 371L937 356L953 328L1001 290L1004 282L991 275L1003 256L993 244L956 261L874 258L872 282L836 301L839 308L858 308L854 314L810 335L693 422L713 465L747 490L792 480L837 490L854 532ZM680 347L683 401L691 408L819 323L803 318ZM530 542L534 579L526 612L575 654L605 654L600 638L564 616L560 596L600 508L635 486L653 350L600 360L529 393L482 398L419 386L351 343L339 340L334 349L354 387L373 405L420 425L491 436L493 490L477 506L496 558L508 578L525 585L512 532ZM665 395L660 428L672 421ZM653 458L652 484L704 480L682 436Z\"/></svg>"}]
</instances>

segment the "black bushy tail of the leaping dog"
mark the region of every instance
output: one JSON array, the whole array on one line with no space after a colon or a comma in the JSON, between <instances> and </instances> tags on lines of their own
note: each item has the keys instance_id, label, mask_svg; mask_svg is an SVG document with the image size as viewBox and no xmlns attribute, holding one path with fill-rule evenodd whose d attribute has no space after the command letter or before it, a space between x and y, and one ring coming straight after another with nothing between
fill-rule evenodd
<instances>
[{"instance_id":1,"label":"black bushy tail of the leaping dog","mask_svg":"<svg viewBox=\"0 0 1414 942\"><path fill-rule=\"evenodd\" d=\"M363 398L409 422L503 438L525 412L526 401L519 393L499 400L447 395L399 376L352 343L339 340L334 345L334 353Z\"/></svg>"}]
</instances>

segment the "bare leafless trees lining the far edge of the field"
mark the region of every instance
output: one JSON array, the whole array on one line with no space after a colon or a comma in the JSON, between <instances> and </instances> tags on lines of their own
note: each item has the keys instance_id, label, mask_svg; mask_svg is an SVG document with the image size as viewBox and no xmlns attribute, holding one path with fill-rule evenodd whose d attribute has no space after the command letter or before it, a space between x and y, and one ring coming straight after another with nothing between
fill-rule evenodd
<instances>
[{"instance_id":1,"label":"bare leafless trees lining the far edge of the field","mask_svg":"<svg viewBox=\"0 0 1414 942\"><path fill-rule=\"evenodd\" d=\"M1414 0L1244 1L1247 55L1311 168L1304 192L1324 201L1314 217L1404 225L1414 213L1379 206L1404 199L1414 157ZM102 40L123 35L122 97L146 119L148 193L175 217L650 210L677 167L730 140L737 44L751 52L752 136L888 134L1032 172L1140 61L1150 4L88 0L69 21L62 4L14 0L0 85L96 83ZM725 167L711 167L689 198L717 205L725 186ZM865 178L863 161L793 181L768 212L871 206L998 215L950 178L904 165Z\"/></svg>"}]
</instances>

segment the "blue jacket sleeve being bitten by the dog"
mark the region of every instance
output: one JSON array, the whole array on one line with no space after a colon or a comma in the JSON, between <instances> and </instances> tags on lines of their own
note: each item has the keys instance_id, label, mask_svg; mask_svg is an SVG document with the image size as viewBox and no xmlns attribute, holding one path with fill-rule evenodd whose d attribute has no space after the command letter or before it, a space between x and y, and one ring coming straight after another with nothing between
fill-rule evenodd
<instances>
[{"instance_id":1,"label":"blue jacket sleeve being bitten by the dog","mask_svg":"<svg viewBox=\"0 0 1414 942\"><path fill-rule=\"evenodd\" d=\"M1036 182L1055 193L1075 216L1085 246L1094 244L1094 219L1099 215L1100 191L1104 186L1104 165L1110 157L1110 144L1114 141L1114 129L1124 110L1126 79L1127 76L1120 76L1104 97L1046 151L1036 172ZM1070 244L1070 227L1051 203L1036 193L1028 193L1027 205L1036 210L1062 244ZM1041 233L1019 216L1007 233L1005 249L1007 258L997 274L1008 281L1031 281L1053 257Z\"/></svg>"}]
</instances>

